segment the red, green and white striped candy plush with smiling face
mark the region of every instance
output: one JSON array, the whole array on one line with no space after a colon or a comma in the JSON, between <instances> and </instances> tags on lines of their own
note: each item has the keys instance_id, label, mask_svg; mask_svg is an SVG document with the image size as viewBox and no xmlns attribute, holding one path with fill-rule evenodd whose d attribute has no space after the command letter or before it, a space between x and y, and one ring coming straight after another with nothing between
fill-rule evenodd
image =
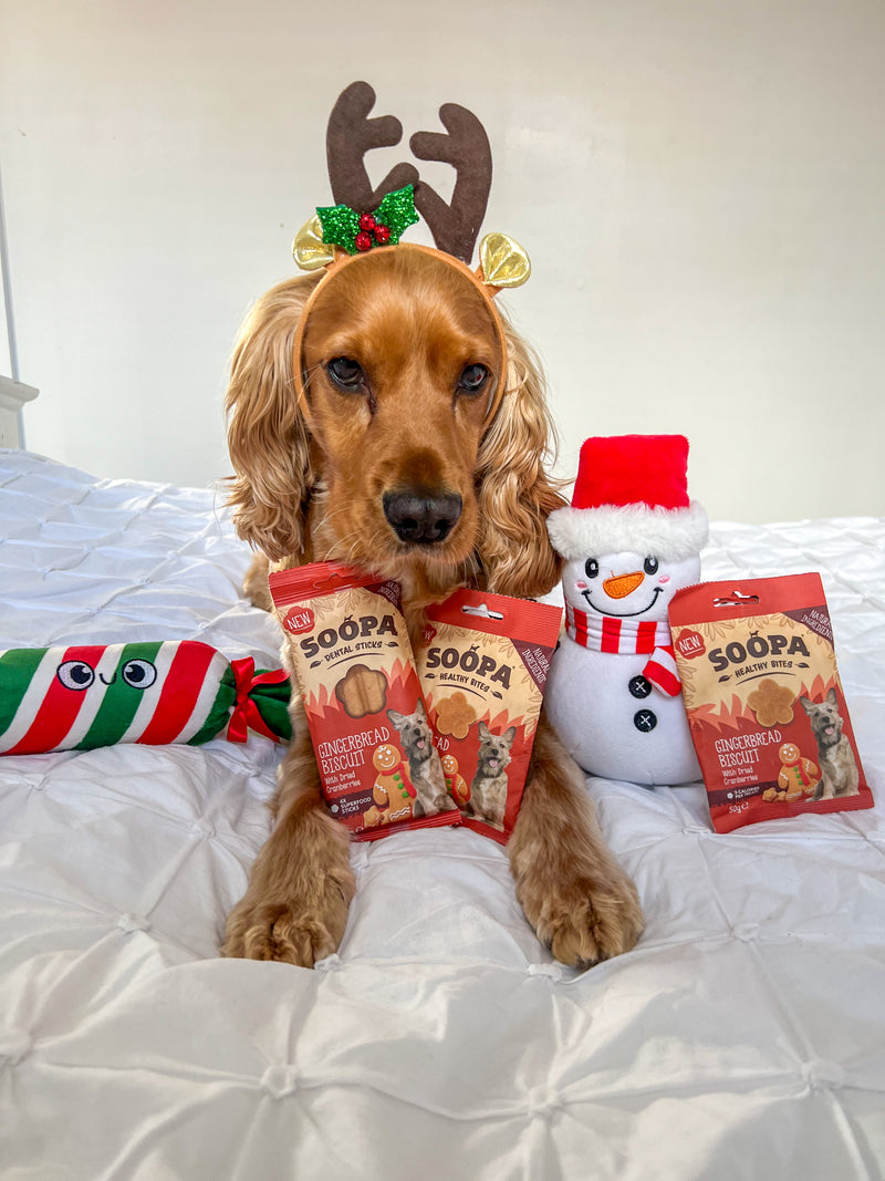
<instances>
[{"instance_id":1,"label":"red, green and white striped candy plush with smiling face","mask_svg":"<svg viewBox=\"0 0 885 1181\"><path fill-rule=\"evenodd\" d=\"M116 743L288 742L289 679L196 640L0 653L0 755Z\"/></svg>"}]
</instances>

